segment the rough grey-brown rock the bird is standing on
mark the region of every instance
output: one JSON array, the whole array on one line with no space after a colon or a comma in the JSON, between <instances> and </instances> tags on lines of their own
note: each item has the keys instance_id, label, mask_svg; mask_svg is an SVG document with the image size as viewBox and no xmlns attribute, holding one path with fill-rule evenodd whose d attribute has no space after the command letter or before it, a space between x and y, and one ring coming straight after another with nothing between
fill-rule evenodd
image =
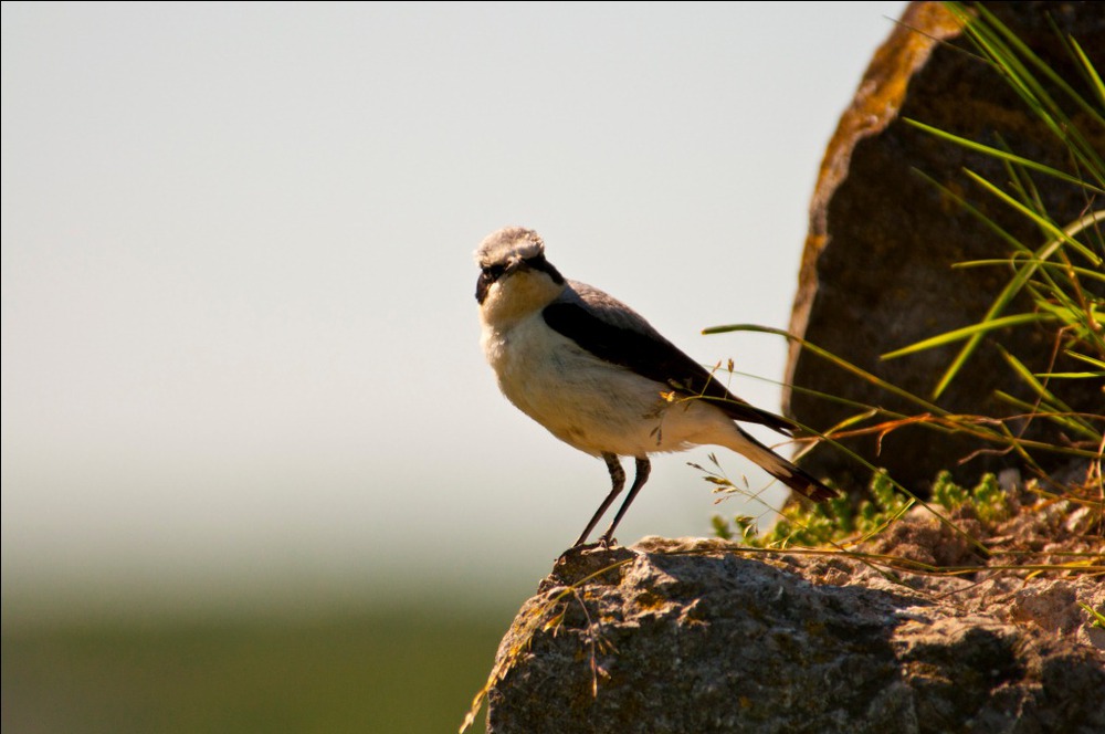
<instances>
[{"instance_id":1,"label":"rough grey-brown rock the bird is standing on","mask_svg":"<svg viewBox=\"0 0 1105 734\"><path fill-rule=\"evenodd\" d=\"M1105 589L1027 587L723 541L571 552L499 647L487 731L1105 731L1105 640L1071 608Z\"/></svg>"}]
</instances>

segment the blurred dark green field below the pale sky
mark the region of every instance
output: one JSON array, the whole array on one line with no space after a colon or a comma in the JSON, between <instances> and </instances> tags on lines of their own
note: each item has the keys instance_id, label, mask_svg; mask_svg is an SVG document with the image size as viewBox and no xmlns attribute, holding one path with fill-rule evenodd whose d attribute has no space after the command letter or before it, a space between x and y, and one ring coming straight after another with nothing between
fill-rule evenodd
<instances>
[{"instance_id":1,"label":"blurred dark green field below the pale sky","mask_svg":"<svg viewBox=\"0 0 1105 734\"><path fill-rule=\"evenodd\" d=\"M514 609L21 625L6 734L455 732ZM483 731L484 717L471 731Z\"/></svg>"}]
</instances>

